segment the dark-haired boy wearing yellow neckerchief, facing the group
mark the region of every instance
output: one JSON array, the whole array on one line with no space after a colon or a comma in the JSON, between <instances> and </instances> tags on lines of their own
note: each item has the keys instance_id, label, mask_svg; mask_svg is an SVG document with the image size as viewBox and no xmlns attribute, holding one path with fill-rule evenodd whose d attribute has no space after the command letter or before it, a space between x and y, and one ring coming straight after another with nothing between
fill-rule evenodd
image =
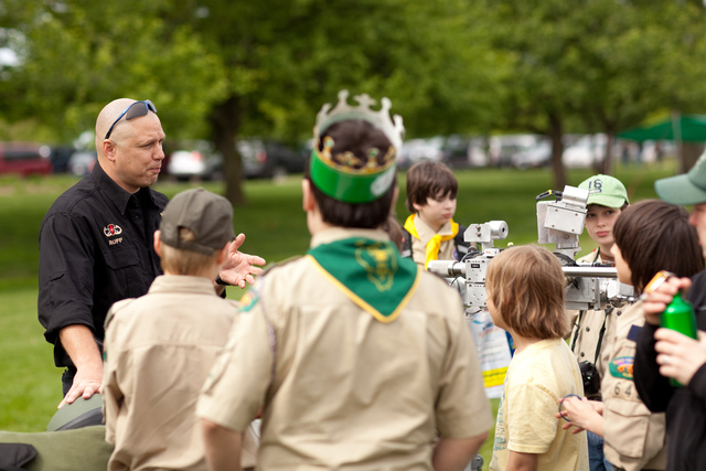
<instances>
[{"instance_id":1,"label":"dark-haired boy wearing yellow neckerchief, facing the group","mask_svg":"<svg viewBox=\"0 0 706 471\"><path fill-rule=\"evenodd\" d=\"M453 222L458 181L442 162L424 160L407 171L403 257L426 267L431 260L460 260L468 253L466 227Z\"/></svg>"}]
</instances>

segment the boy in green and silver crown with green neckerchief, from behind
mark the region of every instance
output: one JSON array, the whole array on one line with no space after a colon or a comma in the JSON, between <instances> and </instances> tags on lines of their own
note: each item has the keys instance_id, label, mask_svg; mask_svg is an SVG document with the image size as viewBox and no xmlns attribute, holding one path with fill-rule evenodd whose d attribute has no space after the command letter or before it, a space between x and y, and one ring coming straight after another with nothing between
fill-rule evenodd
<instances>
[{"instance_id":1,"label":"boy in green and silver crown with green neckerchief, from behind","mask_svg":"<svg viewBox=\"0 0 706 471\"><path fill-rule=\"evenodd\" d=\"M402 118L367 95L325 105L302 181L307 255L270 269L197 406L213 470L237 469L261 411L267 470L461 470L492 426L458 293L403 259L394 205Z\"/></svg>"}]
</instances>

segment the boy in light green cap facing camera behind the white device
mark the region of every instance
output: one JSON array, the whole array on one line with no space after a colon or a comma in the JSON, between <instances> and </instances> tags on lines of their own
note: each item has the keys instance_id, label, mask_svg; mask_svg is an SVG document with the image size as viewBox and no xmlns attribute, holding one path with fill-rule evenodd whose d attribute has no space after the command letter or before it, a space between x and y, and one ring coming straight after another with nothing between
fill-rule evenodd
<instances>
[{"instance_id":1,"label":"boy in light green cap facing camera behind the white device","mask_svg":"<svg viewBox=\"0 0 706 471\"><path fill-rule=\"evenodd\" d=\"M582 265L614 265L610 251L613 246L613 226L622 210L630 204L625 186L614 176L597 174L584 180L578 188L589 192L585 226L598 247L576 261ZM569 346L582 364L585 376L598 373L600 378L606 374L607 358L603 354L610 351L616 319L623 308L624 306L607 306L601 310L569 312L574 320ZM586 396L600 400L600 381L595 379L591 384L593 388L586 387ZM587 433L591 471L610 470L610 463L603 457L603 439L590 431Z\"/></svg>"}]
</instances>

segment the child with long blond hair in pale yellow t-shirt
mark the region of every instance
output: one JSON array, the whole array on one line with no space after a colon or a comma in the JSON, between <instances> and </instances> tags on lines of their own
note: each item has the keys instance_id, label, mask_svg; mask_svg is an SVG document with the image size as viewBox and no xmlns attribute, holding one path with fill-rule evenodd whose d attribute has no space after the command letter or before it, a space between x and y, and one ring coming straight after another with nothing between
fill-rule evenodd
<instances>
[{"instance_id":1,"label":"child with long blond hair in pale yellow t-shirt","mask_svg":"<svg viewBox=\"0 0 706 471\"><path fill-rule=\"evenodd\" d=\"M565 283L559 260L541 246L505 249L488 266L488 310L516 349L498 410L493 471L588 470L586 433L564 430L556 417L564 397L584 395L563 339Z\"/></svg>"}]
</instances>

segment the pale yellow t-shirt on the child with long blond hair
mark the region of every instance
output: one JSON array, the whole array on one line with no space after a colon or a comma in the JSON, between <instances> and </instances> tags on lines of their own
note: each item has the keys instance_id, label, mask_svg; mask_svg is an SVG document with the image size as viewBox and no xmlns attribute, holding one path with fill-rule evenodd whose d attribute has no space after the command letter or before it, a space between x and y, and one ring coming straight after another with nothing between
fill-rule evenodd
<instances>
[{"instance_id":1,"label":"pale yellow t-shirt on the child with long blond hair","mask_svg":"<svg viewBox=\"0 0 706 471\"><path fill-rule=\"evenodd\" d=\"M490 469L505 470L510 451L538 454L542 471L588 470L586 433L563 430L559 400L584 396L578 362L561 339L543 340L516 353L498 410Z\"/></svg>"}]
</instances>

